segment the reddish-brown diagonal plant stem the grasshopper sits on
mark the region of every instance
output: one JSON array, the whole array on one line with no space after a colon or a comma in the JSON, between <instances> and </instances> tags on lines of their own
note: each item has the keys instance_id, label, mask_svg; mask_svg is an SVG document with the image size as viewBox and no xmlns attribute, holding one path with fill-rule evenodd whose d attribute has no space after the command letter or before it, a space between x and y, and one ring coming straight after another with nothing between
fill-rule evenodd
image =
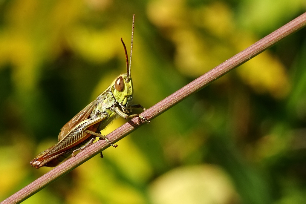
<instances>
[{"instance_id":1,"label":"reddish-brown diagonal plant stem the grasshopper sits on","mask_svg":"<svg viewBox=\"0 0 306 204\"><path fill-rule=\"evenodd\" d=\"M214 69L210 70L209 72L203 74L196 80L187 84L185 87L181 88L180 90L171 94L170 96L163 99L159 103L155 104L151 108L147 109L141 115L147 118L148 120L151 120L152 118L166 111L166 109L170 108L171 106L174 106L175 104L186 98L187 96L191 95L192 93L195 93L196 91L199 91L207 84L218 79L219 77L223 76L224 74L236 68L237 66L241 65L242 63L255 57L257 54L263 52L267 48L278 43L280 40L296 32L297 30L303 28L305 25L306 25L306 13L303 13L299 17L295 18L294 20L285 24L281 28L272 32L270 35L267 35L266 37L259 40L255 44L249 46L247 49L241 51L240 53L226 60L225 62L218 65ZM121 127L117 128L116 130L108 134L107 138L114 143L122 139L125 135L129 134L136 128L138 128L141 125L141 123L143 122L139 121L138 117L133 118L129 122L123 124ZM5 199L1 203L4 204L4 203L22 202L29 196L41 190L47 184L70 172L72 169L81 165L82 163L84 163L85 161L87 161L88 159L95 156L96 154L98 154L99 152L101 152L102 150L106 149L109 146L110 145L104 140L97 141L93 145L85 148L75 157L69 158L67 161L58 165L56 168L50 170L49 172L39 177L31 184L22 188L20 191L13 194L9 198Z\"/></svg>"}]
</instances>

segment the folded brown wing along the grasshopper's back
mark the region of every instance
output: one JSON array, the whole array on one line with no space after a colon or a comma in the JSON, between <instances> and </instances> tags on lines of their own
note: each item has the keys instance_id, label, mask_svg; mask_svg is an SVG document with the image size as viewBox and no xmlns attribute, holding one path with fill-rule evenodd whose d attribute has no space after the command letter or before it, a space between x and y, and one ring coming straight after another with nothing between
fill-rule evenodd
<instances>
[{"instance_id":1,"label":"folded brown wing along the grasshopper's back","mask_svg":"<svg viewBox=\"0 0 306 204\"><path fill-rule=\"evenodd\" d=\"M76 116L74 116L68 123L66 123L62 128L61 132L58 134L58 141L63 139L73 128L76 127L80 122L88 119L92 109L98 103L98 100L95 99L93 102L88 104L83 110L81 110Z\"/></svg>"}]
</instances>

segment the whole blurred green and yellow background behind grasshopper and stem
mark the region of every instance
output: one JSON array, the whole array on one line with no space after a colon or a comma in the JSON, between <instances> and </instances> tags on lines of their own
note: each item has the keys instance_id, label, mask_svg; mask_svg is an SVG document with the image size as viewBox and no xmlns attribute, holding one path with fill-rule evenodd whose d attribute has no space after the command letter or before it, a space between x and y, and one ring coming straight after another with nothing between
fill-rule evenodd
<instances>
[{"instance_id":1,"label":"whole blurred green and yellow background behind grasshopper and stem","mask_svg":"<svg viewBox=\"0 0 306 204\"><path fill-rule=\"evenodd\" d=\"M1 0L0 200L125 72L149 108L302 14L305 0ZM23 203L306 203L306 29ZM106 132L125 122L119 118Z\"/></svg>"}]
</instances>

